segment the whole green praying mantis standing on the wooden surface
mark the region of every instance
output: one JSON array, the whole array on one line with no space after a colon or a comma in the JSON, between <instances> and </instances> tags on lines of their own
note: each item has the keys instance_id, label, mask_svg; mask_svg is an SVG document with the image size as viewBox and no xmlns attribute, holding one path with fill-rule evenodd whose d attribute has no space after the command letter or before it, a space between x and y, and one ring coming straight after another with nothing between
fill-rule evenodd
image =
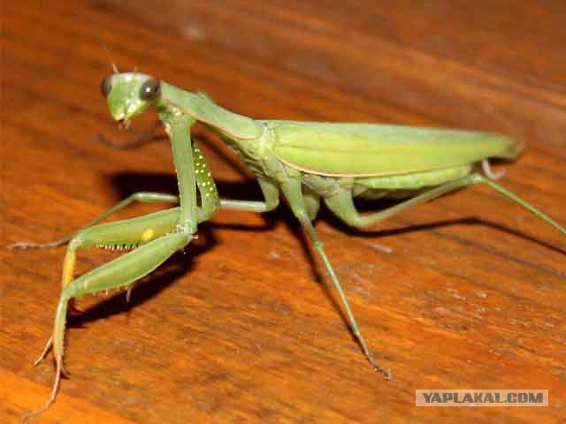
<instances>
[{"instance_id":1,"label":"whole green praying mantis standing on the wooden surface","mask_svg":"<svg viewBox=\"0 0 566 424\"><path fill-rule=\"evenodd\" d=\"M386 378L391 374L374 360L313 227L321 200L341 221L363 228L444 193L486 184L566 234L566 229L552 218L493 181L499 175L493 174L487 159L514 159L524 148L519 141L498 134L398 125L255 120L223 109L206 95L181 90L140 72L119 73L116 69L103 79L102 90L111 116L122 125L128 126L134 116L149 108L157 110L171 140L179 195L134 193L72 236L43 245L15 245L42 247L68 242L53 332L35 362L41 362L52 347L57 366L55 382L47 403L25 418L47 410L57 396L61 375L65 374L63 348L70 300L117 288L126 288L129 296L136 280L184 249L195 239L198 224L219 208L264 213L277 208L281 196L285 198L320 255L363 354L371 367ZM191 140L191 128L197 122L217 134L253 170L264 201L225 200L218 196L209 166ZM361 215L354 205L355 197L393 197L399 202ZM134 201L165 201L178 206L100 224ZM73 277L78 250L117 246L133 250Z\"/></svg>"}]
</instances>

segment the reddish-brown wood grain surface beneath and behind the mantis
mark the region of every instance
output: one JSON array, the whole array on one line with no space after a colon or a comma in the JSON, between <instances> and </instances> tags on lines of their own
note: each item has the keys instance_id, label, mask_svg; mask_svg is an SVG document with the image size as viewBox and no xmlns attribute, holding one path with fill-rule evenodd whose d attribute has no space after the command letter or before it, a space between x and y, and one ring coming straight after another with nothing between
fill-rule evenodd
<instances>
[{"instance_id":1,"label":"reddish-brown wood grain surface beneath and behind the mantis","mask_svg":"<svg viewBox=\"0 0 566 424\"><path fill-rule=\"evenodd\" d=\"M561 5L562 4L562 5ZM174 192L170 148L112 150L99 92L120 69L252 117L507 133L503 184L566 223L562 2L3 2L2 245L50 240L138 190ZM221 193L259 190L201 132ZM375 205L384 207L383 204ZM137 206L120 216L155 210ZM134 290L80 300L57 403L37 422L558 422L566 239L486 187L356 232L317 230L371 348L367 366L286 208L220 212ZM382 246L393 251L389 254ZM0 249L0 421L48 398L64 248ZM111 254L80 255L80 271ZM547 389L547 408L417 408L416 389Z\"/></svg>"}]
</instances>

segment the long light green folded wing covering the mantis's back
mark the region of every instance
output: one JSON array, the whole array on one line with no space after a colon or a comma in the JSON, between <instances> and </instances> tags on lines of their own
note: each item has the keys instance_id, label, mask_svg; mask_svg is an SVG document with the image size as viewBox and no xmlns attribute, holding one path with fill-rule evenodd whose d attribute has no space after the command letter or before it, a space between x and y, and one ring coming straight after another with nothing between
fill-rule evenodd
<instances>
[{"instance_id":1,"label":"long light green folded wing covering the mantis's back","mask_svg":"<svg viewBox=\"0 0 566 424\"><path fill-rule=\"evenodd\" d=\"M512 159L523 143L494 133L401 125L263 121L273 154L288 165L328 176L372 177L438 170L491 156Z\"/></svg>"}]
</instances>

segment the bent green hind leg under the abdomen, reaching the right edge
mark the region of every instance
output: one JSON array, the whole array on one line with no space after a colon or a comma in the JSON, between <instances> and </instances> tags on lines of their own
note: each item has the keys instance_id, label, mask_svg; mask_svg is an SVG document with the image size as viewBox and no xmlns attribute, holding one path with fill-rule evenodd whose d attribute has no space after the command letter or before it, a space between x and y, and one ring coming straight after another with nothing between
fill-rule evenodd
<instances>
[{"instance_id":1,"label":"bent green hind leg under the abdomen, reaching the right edge","mask_svg":"<svg viewBox=\"0 0 566 424\"><path fill-rule=\"evenodd\" d=\"M493 190L496 190L497 192L503 194L505 197L511 199L512 201L516 201L516 203L531 211L532 214L538 216L544 222L555 227L556 230L566 234L566 229L564 229L564 227L562 227L559 223L556 223L555 220L553 220L550 216L547 216L539 209L534 208L530 203L516 196L516 194L510 193L499 184L493 182L493 180L477 173L449 181L441 186L437 186L431 188L428 191L425 191L424 193L420 193L417 196L412 197L408 201L402 201L392 208L386 208L385 210L381 210L369 215L361 215L357 211L356 206L354 205L354 201L352 200L352 193L351 191L346 189L340 189L340 191L333 196L326 197L325 204L328 208L330 208L330 210L333 211L334 215L338 216L345 223L348 223L348 225L363 228L374 223L379 223L380 221L383 221L390 216L394 216L398 212L401 212L403 209L409 208L409 206L413 206L418 203L424 203L425 201L431 201L432 199L440 197L442 194L453 192L465 186L473 186L475 184L482 183L492 187Z\"/></svg>"}]
</instances>

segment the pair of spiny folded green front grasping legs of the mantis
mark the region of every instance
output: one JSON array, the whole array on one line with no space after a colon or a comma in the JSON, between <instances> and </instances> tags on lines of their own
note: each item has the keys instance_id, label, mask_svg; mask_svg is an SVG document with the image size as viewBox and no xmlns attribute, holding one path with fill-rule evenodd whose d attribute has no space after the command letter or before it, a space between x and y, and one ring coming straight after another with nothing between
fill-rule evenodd
<instances>
[{"instance_id":1,"label":"pair of spiny folded green front grasping legs of the mantis","mask_svg":"<svg viewBox=\"0 0 566 424\"><path fill-rule=\"evenodd\" d=\"M57 371L50 399L41 410L27 414L31 418L42 413L54 402L58 384L63 373L63 339L65 320L69 300L80 298L89 293L103 292L126 287L156 269L167 258L183 249L194 238L198 222L196 202L196 170L208 170L202 157L194 157L194 148L190 140L190 126L195 122L187 116L164 115L164 122L171 135L173 160L177 171L180 191L180 207L173 212L164 211L150 216L126 220L126 222L107 223L80 231L70 243L65 255L63 270L63 290L57 305L55 324L50 340L43 350L44 355L50 345L57 363ZM218 193L208 172L199 172L199 188L206 187L201 193L203 218L210 217L219 206ZM211 186L210 186L211 185ZM172 217L176 217L174 223ZM171 232L169 232L171 231ZM159 237L161 236L161 237ZM156 237L158 237L156 239ZM135 245L146 242L133 252L92 269L88 273L73 278L75 252L79 247L109 245L121 242ZM41 360L42 357L40 357Z\"/></svg>"}]
</instances>

